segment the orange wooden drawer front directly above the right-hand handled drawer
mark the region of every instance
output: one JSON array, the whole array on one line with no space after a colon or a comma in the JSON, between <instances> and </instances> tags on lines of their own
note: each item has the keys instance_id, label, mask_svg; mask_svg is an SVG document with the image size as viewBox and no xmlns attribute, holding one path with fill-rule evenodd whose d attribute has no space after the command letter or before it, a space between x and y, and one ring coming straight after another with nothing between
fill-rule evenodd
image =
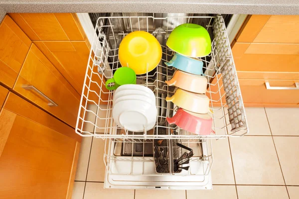
<instances>
[{"instance_id":1,"label":"orange wooden drawer front directly above the right-hand handled drawer","mask_svg":"<svg viewBox=\"0 0 299 199\"><path fill-rule=\"evenodd\" d=\"M240 79L299 79L299 44L236 42L232 52Z\"/></svg>"}]
</instances>

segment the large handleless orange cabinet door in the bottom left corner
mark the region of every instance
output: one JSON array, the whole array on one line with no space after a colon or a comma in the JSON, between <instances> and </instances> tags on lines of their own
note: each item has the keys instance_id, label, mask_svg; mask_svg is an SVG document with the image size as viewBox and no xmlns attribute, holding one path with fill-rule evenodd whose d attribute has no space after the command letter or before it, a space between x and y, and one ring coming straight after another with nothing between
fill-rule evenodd
<instances>
[{"instance_id":1,"label":"large handleless orange cabinet door in the bottom left corner","mask_svg":"<svg viewBox=\"0 0 299 199\"><path fill-rule=\"evenodd\" d=\"M0 112L0 198L70 198L81 138L9 93Z\"/></svg>"}]
</instances>

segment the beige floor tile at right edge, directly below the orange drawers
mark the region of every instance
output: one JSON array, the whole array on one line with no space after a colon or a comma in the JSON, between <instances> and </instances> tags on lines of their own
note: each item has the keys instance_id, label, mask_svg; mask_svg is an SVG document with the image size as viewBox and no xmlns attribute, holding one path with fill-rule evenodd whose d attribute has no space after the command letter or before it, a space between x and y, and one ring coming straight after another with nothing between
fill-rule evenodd
<instances>
[{"instance_id":1,"label":"beige floor tile at right edge, directly below the orange drawers","mask_svg":"<svg viewBox=\"0 0 299 199\"><path fill-rule=\"evenodd\" d=\"M299 135L299 108L266 108L273 135Z\"/></svg>"}]
</instances>

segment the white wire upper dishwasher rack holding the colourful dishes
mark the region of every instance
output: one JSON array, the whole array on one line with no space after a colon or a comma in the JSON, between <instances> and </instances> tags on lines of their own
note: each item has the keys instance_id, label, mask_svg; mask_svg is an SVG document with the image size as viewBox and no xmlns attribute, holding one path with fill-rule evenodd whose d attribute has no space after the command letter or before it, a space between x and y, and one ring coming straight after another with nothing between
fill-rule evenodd
<instances>
[{"instance_id":1,"label":"white wire upper dishwasher rack holding the colourful dishes","mask_svg":"<svg viewBox=\"0 0 299 199\"><path fill-rule=\"evenodd\" d=\"M172 102L165 101L165 98L173 95L176 90L175 87L167 86L164 83L165 80L170 80L175 72L175 68L167 67L164 64L174 54L165 46L165 42L169 33L182 23L200 25L205 23L204 27L209 31L212 39L212 52L208 56L202 57L201 60L204 63L205 77L209 82L206 95L210 98L210 107L214 112L211 113L211 116L215 134L197 135L166 123L166 117L171 117L177 107ZM117 68L121 67L118 59L119 43L128 33L135 30L151 33L158 39L162 47L162 59L156 69L148 74L138 75L137 84L147 86L154 92L158 110L154 128L166 128L166 135L154 135L150 131L144 132L144 134L128 133L127 131L118 134L117 129L120 127L113 121L114 91L108 91L105 88L105 81L112 78ZM94 104L96 108L89 108L91 104ZM177 133L174 134L173 131ZM202 138L224 138L248 133L239 81L223 17L221 15L99 17L85 74L76 133L81 136L94 136L103 139L187 139L191 142Z\"/></svg>"}]
</instances>

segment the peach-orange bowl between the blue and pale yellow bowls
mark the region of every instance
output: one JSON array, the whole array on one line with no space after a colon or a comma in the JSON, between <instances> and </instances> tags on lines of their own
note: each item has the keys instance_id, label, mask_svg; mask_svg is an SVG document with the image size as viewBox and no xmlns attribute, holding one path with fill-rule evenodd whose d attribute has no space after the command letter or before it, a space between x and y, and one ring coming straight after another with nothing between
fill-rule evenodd
<instances>
[{"instance_id":1,"label":"peach-orange bowl between the blue and pale yellow bowls","mask_svg":"<svg viewBox=\"0 0 299 199\"><path fill-rule=\"evenodd\" d=\"M193 75L183 71L175 71L169 81L165 81L168 86L176 86L180 89L205 94L207 92L208 80L201 75Z\"/></svg>"}]
</instances>

